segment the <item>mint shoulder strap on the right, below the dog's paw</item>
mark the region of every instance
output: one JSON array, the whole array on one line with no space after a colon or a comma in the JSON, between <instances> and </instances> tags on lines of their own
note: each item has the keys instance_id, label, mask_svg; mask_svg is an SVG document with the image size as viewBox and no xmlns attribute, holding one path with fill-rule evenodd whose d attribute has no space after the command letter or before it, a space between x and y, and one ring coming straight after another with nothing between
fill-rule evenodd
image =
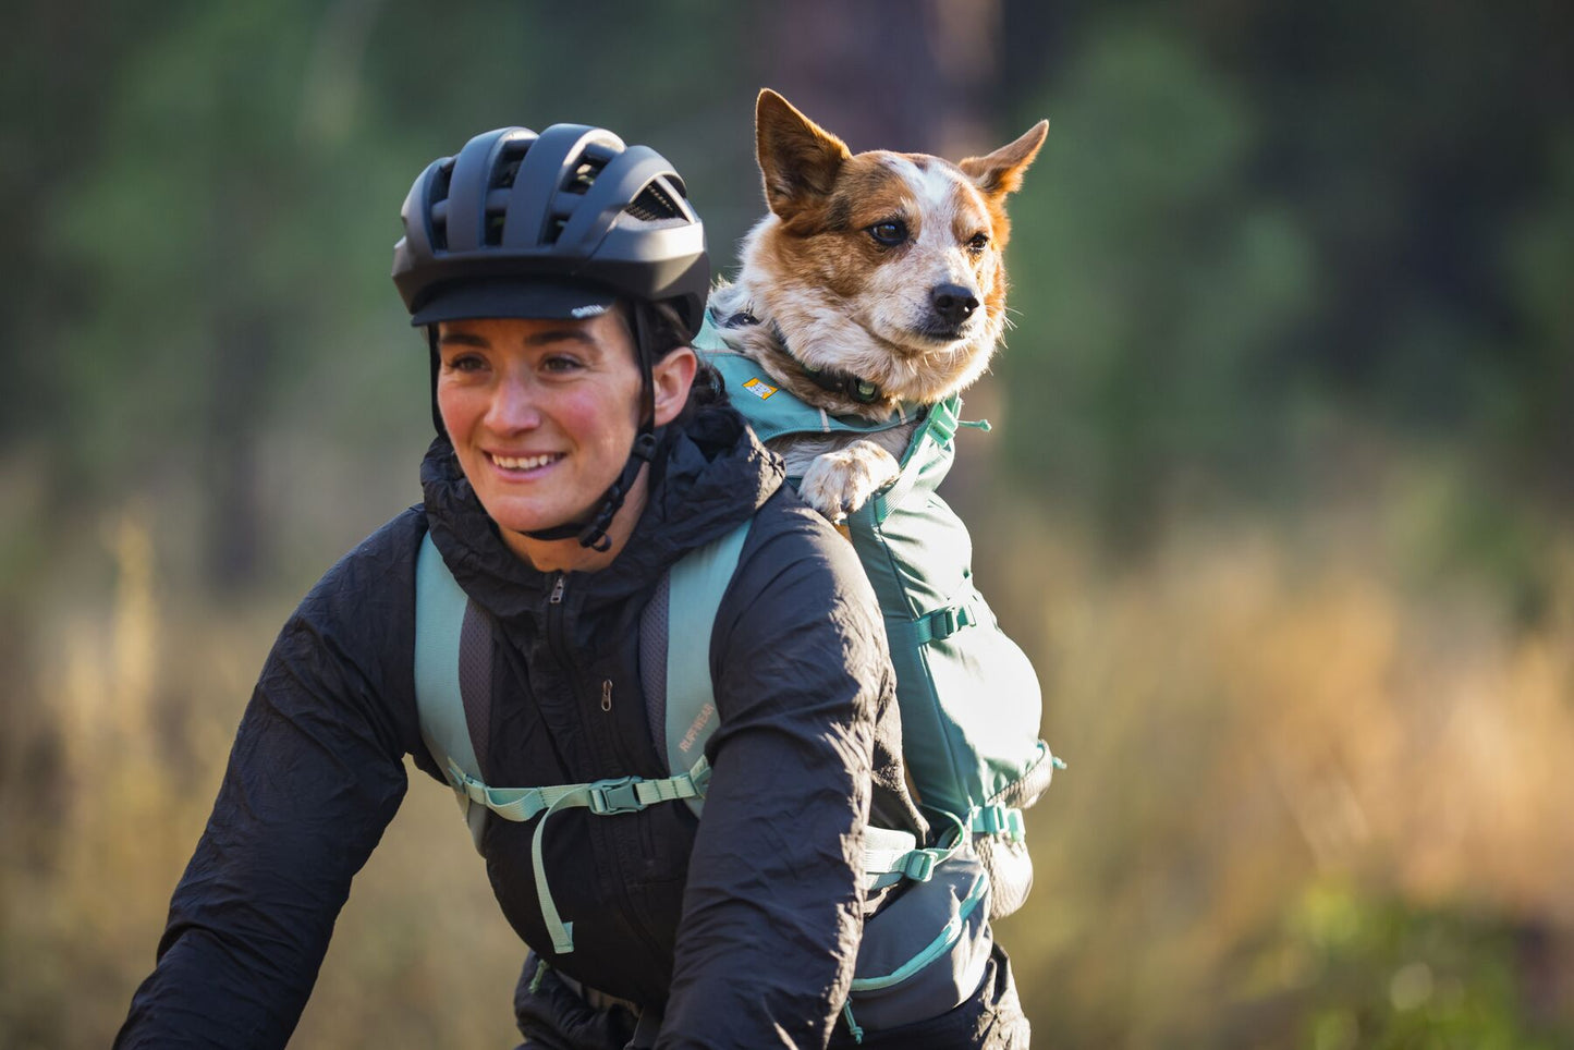
<instances>
[{"instance_id":1,"label":"mint shoulder strap on the right, below the dog's paw","mask_svg":"<svg viewBox=\"0 0 1574 1050\"><path fill-rule=\"evenodd\" d=\"M650 697L666 710L667 771L672 775L694 768L705 757L705 741L716 729L716 701L710 680L710 636L716 625L716 609L732 575L738 568L743 540L749 535L749 518L737 529L685 554L667 571L667 617L664 697ZM658 595L660 598L660 595ZM644 628L648 619L641 620ZM689 798L694 815L704 798Z\"/></svg>"}]
</instances>

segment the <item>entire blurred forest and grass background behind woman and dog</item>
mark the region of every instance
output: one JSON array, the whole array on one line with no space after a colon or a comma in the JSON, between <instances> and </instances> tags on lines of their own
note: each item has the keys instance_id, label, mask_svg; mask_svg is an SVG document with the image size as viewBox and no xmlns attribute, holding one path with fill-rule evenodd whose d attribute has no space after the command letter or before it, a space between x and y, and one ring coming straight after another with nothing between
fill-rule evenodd
<instances>
[{"instance_id":1,"label":"entire blurred forest and grass background behind woman and dog","mask_svg":"<svg viewBox=\"0 0 1574 1050\"><path fill-rule=\"evenodd\" d=\"M0 1045L107 1045L274 633L419 499L414 175L608 124L726 272L762 85L859 150L1051 121L946 490L1070 762L1037 1042L1574 1045L1574 6L6 9ZM512 1045L519 954L420 778L296 1045Z\"/></svg>"}]
</instances>

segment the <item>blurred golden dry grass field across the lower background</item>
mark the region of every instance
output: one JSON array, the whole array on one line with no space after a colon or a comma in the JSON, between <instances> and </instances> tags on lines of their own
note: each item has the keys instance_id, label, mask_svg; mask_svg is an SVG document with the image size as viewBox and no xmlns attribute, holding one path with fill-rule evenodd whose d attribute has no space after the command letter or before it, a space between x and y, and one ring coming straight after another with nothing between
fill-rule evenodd
<instances>
[{"instance_id":1,"label":"blurred golden dry grass field across the lower background","mask_svg":"<svg viewBox=\"0 0 1574 1050\"><path fill-rule=\"evenodd\" d=\"M1001 930L1040 1045L1571 1045L1574 546L1527 625L1469 578L1407 581L1376 512L1176 527L1121 567L1014 519L981 581L1070 763ZM107 1045L290 608L179 593L146 513L101 532L102 593L39 604L8 682L16 1050ZM296 1044L512 1045L519 957L416 775Z\"/></svg>"}]
</instances>

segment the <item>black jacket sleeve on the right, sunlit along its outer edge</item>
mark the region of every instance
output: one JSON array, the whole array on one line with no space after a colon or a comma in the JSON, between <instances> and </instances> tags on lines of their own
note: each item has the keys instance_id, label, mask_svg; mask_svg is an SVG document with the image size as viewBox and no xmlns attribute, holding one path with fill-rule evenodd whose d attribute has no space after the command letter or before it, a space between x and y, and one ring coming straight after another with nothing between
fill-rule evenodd
<instances>
[{"instance_id":1,"label":"black jacket sleeve on the right, sunlit along its outer edge","mask_svg":"<svg viewBox=\"0 0 1574 1050\"><path fill-rule=\"evenodd\" d=\"M874 593L822 524L746 553L716 619L721 726L664 1048L825 1047L853 976L875 721L894 693Z\"/></svg>"}]
</instances>

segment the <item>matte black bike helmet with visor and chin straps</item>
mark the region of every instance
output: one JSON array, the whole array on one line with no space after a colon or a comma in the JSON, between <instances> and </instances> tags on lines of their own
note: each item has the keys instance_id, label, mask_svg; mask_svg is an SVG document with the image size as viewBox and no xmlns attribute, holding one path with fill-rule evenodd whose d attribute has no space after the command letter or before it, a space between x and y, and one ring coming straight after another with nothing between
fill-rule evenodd
<instances>
[{"instance_id":1,"label":"matte black bike helmet with visor and chin straps","mask_svg":"<svg viewBox=\"0 0 1574 1050\"><path fill-rule=\"evenodd\" d=\"M411 324L428 326L438 433L439 321L589 318L620 298L634 304L642 411L628 464L589 521L529 534L606 549L606 529L656 449L642 304L669 304L685 338L705 313L705 230L683 179L655 150L626 146L601 128L552 124L540 135L499 128L471 139L458 156L433 161L400 217L394 285Z\"/></svg>"}]
</instances>

